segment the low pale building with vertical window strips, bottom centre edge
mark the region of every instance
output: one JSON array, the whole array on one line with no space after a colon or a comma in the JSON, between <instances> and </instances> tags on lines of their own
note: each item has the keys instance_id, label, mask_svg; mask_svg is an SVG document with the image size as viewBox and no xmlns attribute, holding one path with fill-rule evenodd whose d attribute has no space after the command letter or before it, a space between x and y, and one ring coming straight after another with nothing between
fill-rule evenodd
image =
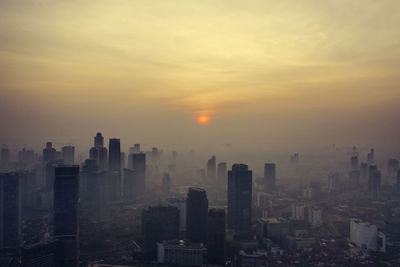
<instances>
[{"instance_id":1,"label":"low pale building with vertical window strips, bottom centre edge","mask_svg":"<svg viewBox=\"0 0 400 267\"><path fill-rule=\"evenodd\" d=\"M203 244L170 240L157 243L157 262L171 266L203 266L207 248Z\"/></svg>"}]
</instances>

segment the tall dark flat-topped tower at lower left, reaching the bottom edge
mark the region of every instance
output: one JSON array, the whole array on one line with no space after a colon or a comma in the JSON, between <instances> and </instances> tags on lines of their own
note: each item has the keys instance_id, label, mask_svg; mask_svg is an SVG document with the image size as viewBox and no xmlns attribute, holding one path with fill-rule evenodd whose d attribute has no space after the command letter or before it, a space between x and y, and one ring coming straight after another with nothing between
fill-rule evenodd
<instances>
[{"instance_id":1,"label":"tall dark flat-topped tower at lower left, reaching the bottom edge","mask_svg":"<svg viewBox=\"0 0 400 267\"><path fill-rule=\"evenodd\" d=\"M54 237L60 241L57 265L79 264L79 166L55 168Z\"/></svg>"}]
</instances>

